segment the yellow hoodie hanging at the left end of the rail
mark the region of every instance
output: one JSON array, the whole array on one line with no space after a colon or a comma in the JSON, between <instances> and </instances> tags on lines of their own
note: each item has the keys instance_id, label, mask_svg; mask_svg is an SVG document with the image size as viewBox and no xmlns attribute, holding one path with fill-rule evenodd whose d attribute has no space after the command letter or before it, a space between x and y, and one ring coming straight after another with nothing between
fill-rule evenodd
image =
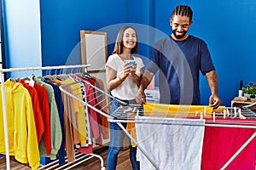
<instances>
[{"instance_id":1,"label":"yellow hoodie hanging at the left end of the rail","mask_svg":"<svg viewBox=\"0 0 256 170\"><path fill-rule=\"evenodd\" d=\"M31 96L20 82L15 83L12 82L11 79L8 79L4 83L4 86L10 133L9 154L15 156L17 161L29 163L32 169L36 169L40 166L40 157ZM3 107L2 102L1 106ZM3 111L2 109L3 108L1 108L1 112ZM3 113L1 116L1 118L3 118ZM12 122L10 123L10 121ZM3 133L1 136L4 138ZM1 146L3 146L4 139L1 140L0 143ZM1 149L1 153L4 154L5 150L3 150L3 147L1 147Z\"/></svg>"}]
</instances>

